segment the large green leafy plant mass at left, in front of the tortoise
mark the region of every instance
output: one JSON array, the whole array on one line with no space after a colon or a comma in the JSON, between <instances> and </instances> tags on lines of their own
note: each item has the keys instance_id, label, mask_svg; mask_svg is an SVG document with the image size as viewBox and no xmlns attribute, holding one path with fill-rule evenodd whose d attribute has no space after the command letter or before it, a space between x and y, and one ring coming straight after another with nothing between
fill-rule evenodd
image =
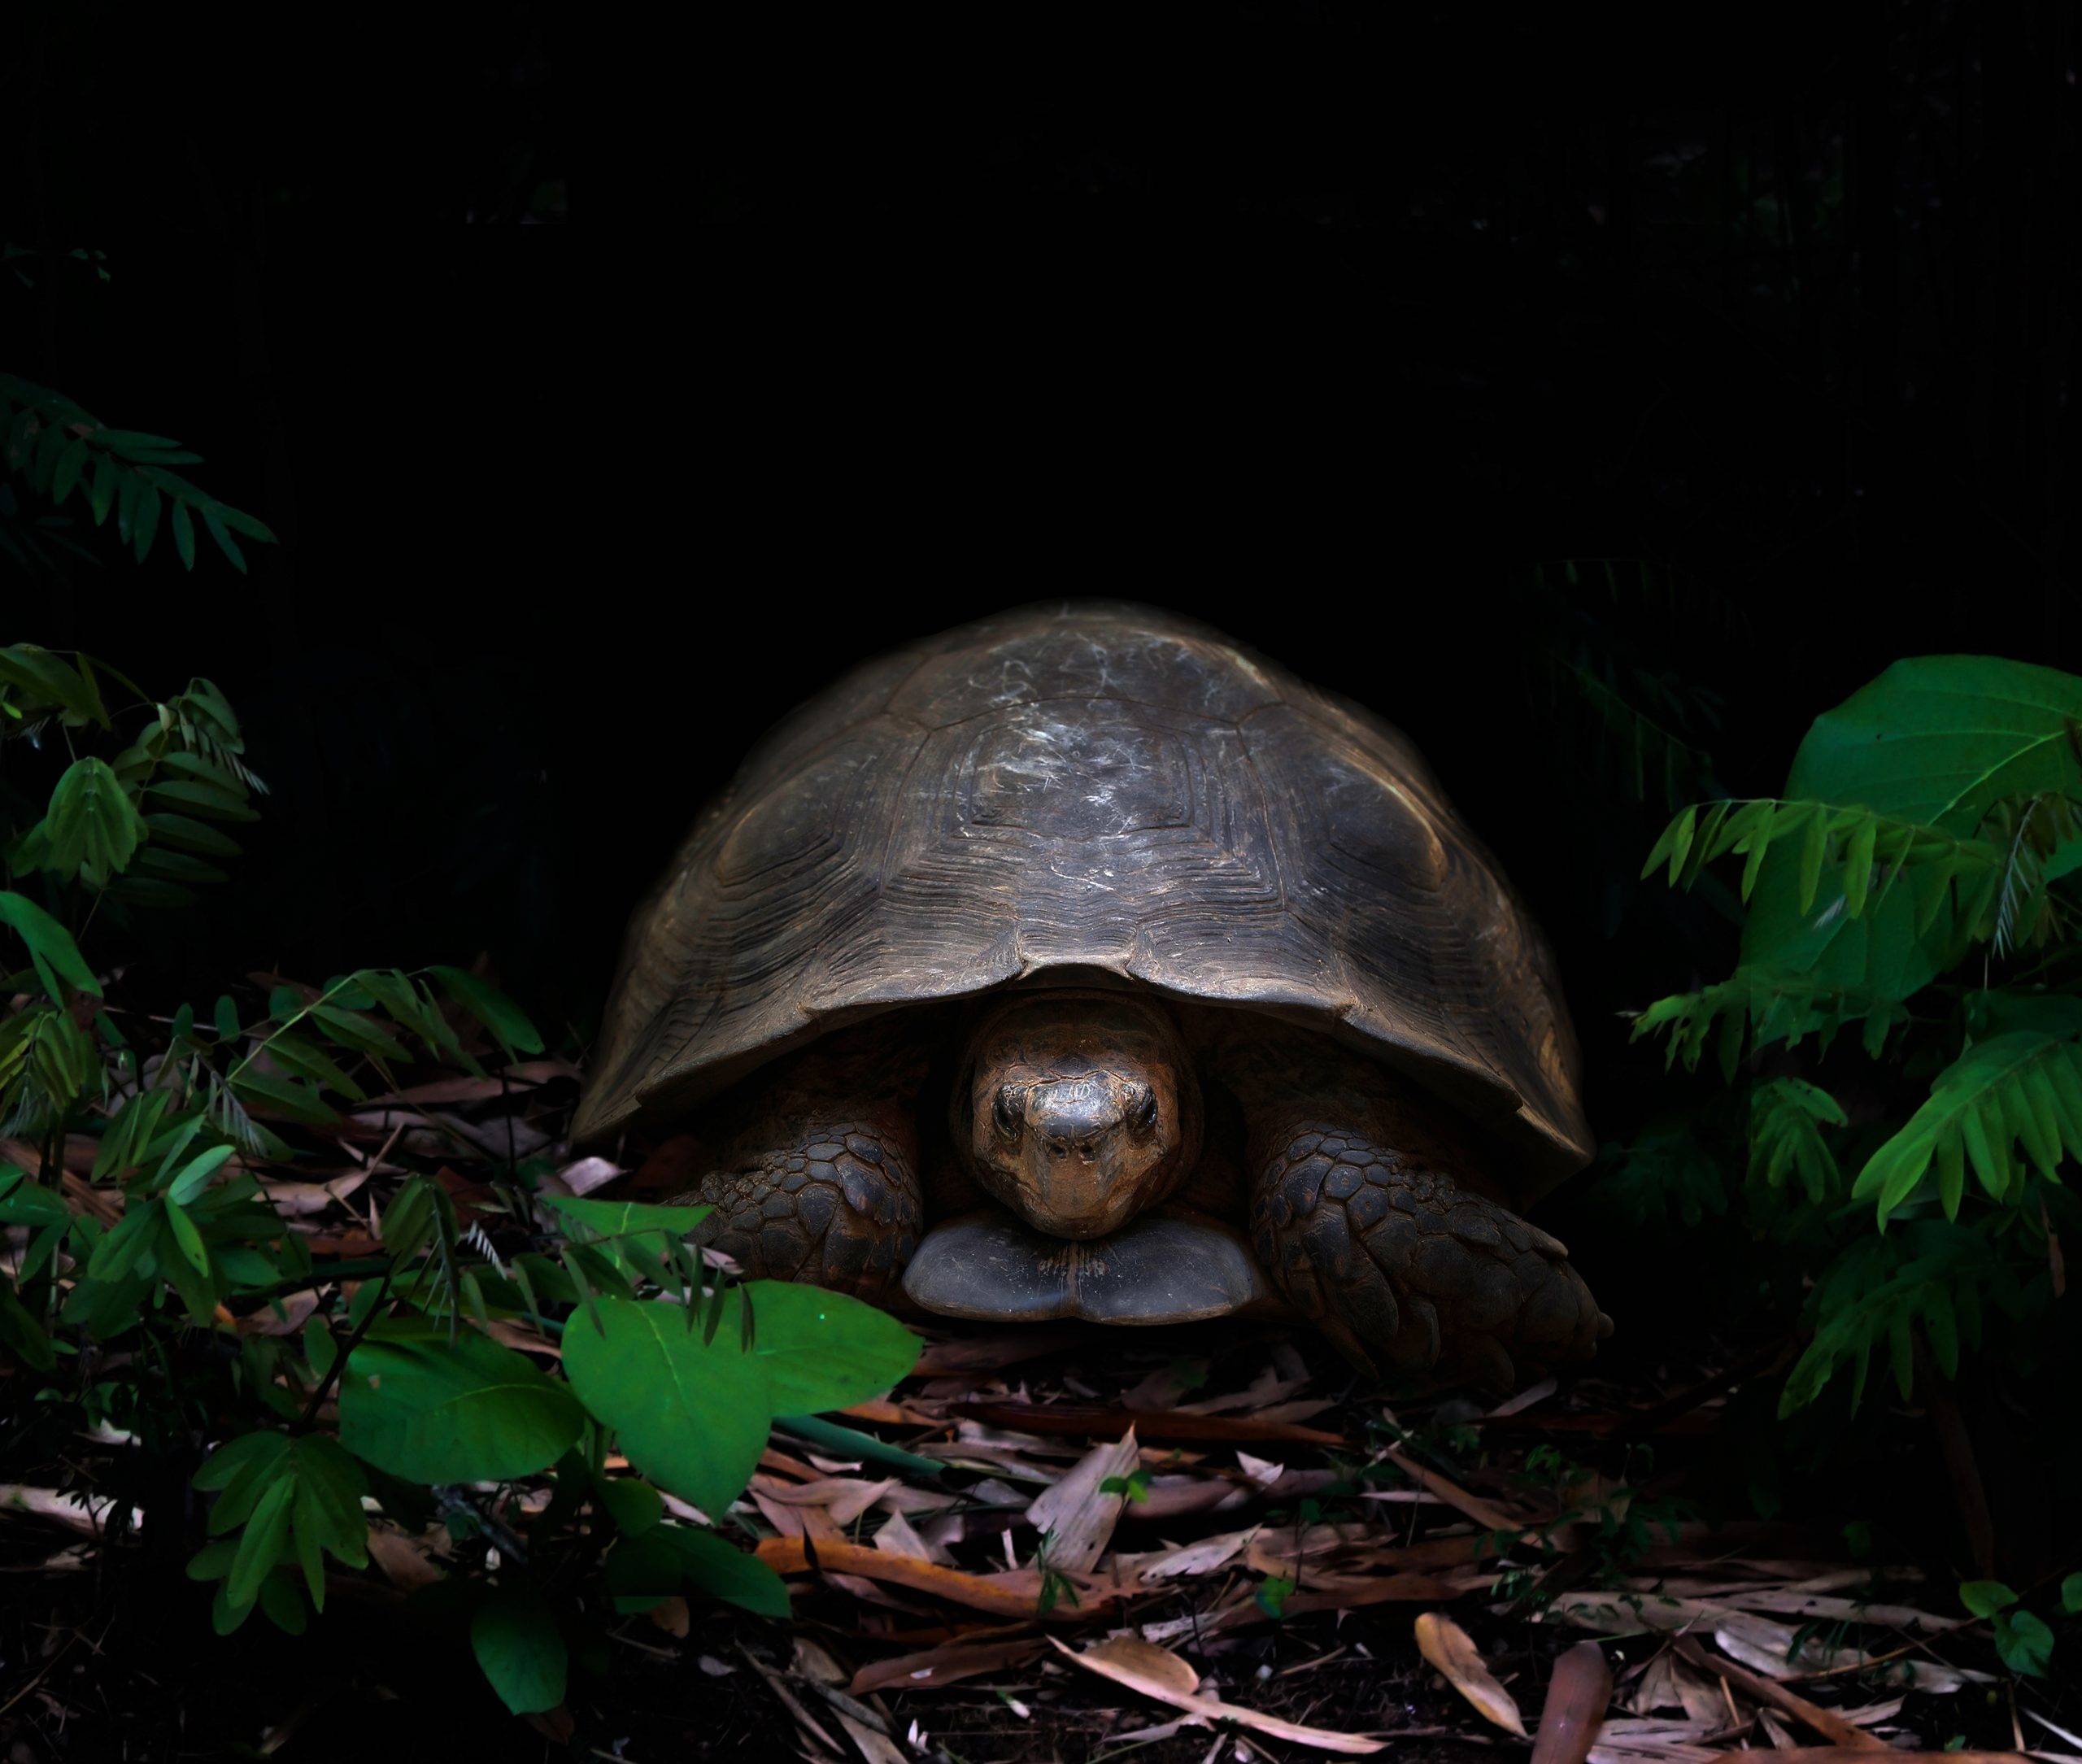
<instances>
[{"instance_id":1,"label":"large green leafy plant mass at left, in front of the tortoise","mask_svg":"<svg viewBox=\"0 0 2082 1764\"><path fill-rule=\"evenodd\" d=\"M112 710L110 681L135 702ZM0 1379L33 1395L10 1439L112 1429L194 1464L210 1502L189 1574L214 1583L219 1631L254 1610L302 1631L329 1579L366 1566L371 1506L381 1527L446 1524L446 1589L518 1712L564 1697L570 1641L610 1612L693 1589L785 1616L729 1508L777 1418L887 1389L916 1339L837 1293L727 1279L689 1245L706 1208L545 1191L541 1160L483 1148L481 1185L439 1150L389 1152L408 1175L377 1254L312 1254L271 1198L285 1170L346 1156L352 1112L402 1104L414 1068L504 1073L541 1037L454 966L142 1008L81 946L104 914L225 881L223 827L260 789L237 719L208 681L154 704L19 644L0 650L17 756L0 1139L35 1150L0 1162ZM37 766L48 789L27 787ZM533 1518L508 1512L516 1481L545 1495Z\"/></svg>"}]
</instances>

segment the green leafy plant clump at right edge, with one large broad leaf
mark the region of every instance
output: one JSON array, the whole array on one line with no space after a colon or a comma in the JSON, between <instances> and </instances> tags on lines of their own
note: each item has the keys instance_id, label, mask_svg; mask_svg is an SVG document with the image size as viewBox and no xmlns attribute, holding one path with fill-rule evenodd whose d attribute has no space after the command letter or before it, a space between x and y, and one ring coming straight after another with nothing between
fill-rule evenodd
<instances>
[{"instance_id":1,"label":"green leafy plant clump at right edge, with one large broad leaf","mask_svg":"<svg viewBox=\"0 0 2082 1764\"><path fill-rule=\"evenodd\" d=\"M1811 1277L1782 1414L1836 1379L1855 1406L1876 1352L1903 1397L1922 1358L1951 1377L1990 1314L2028 1360L2055 1314L2082 1225L2061 1181L2082 1154L2078 802L2082 681L1928 656L1820 716L1782 796L1684 808L1649 854L1676 887L1741 866L1734 973L1634 1033L1736 1087L1745 1216ZM1838 1039L1863 1070L1824 1064ZM1732 1200L1670 1143L1632 1164L1689 1218Z\"/></svg>"}]
</instances>

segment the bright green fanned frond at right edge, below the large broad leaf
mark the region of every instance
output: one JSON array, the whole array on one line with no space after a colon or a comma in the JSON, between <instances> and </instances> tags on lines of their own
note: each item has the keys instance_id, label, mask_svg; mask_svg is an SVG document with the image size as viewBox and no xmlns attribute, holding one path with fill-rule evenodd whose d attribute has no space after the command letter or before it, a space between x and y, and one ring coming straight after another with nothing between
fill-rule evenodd
<instances>
[{"instance_id":1,"label":"bright green fanned frond at right edge, below the large broad leaf","mask_svg":"<svg viewBox=\"0 0 2082 1764\"><path fill-rule=\"evenodd\" d=\"M2049 1183L2063 1156L2082 1156L2082 1043L2040 1029L1978 1041L1872 1154L1851 1193L1876 1198L1884 1227L1934 1166L1945 1216L1957 1218L1970 1168L1990 1200L2022 1193L2020 1148Z\"/></svg>"}]
</instances>

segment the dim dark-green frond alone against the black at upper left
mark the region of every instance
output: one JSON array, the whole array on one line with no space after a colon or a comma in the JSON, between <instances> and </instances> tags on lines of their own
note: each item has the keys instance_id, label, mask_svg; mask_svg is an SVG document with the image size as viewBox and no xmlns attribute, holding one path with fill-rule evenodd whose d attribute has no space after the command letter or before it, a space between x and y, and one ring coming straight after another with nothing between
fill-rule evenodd
<instances>
[{"instance_id":1,"label":"dim dark-green frond alone against the black at upper left","mask_svg":"<svg viewBox=\"0 0 2082 1764\"><path fill-rule=\"evenodd\" d=\"M0 373L0 454L8 471L46 498L52 510L65 508L77 492L96 527L115 514L117 537L137 562L152 552L162 510L183 569L196 566L198 521L239 573L246 571L246 554L233 533L275 544L275 535L252 514L219 502L173 471L173 467L202 464L202 454L187 452L167 435L110 429L62 392L31 385L12 373ZM71 525L65 516L46 514L23 529L10 525L12 514L15 494L6 489L6 506L0 506L0 550L25 569L31 562L52 569L50 546L92 560L92 552L65 537Z\"/></svg>"}]
</instances>

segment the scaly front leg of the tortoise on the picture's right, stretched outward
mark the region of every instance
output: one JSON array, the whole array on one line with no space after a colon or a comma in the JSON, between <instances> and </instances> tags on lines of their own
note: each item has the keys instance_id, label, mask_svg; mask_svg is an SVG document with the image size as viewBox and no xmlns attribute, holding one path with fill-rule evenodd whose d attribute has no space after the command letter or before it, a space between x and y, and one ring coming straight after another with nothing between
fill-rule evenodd
<instances>
[{"instance_id":1,"label":"scaly front leg of the tortoise on the picture's right, stretched outward","mask_svg":"<svg viewBox=\"0 0 2082 1764\"><path fill-rule=\"evenodd\" d=\"M1468 1185L1439 1106L1320 1064L1241 1098L1251 1239L1293 1306L1368 1375L1509 1391L1591 1358L1611 1325L1568 1250Z\"/></svg>"}]
</instances>

